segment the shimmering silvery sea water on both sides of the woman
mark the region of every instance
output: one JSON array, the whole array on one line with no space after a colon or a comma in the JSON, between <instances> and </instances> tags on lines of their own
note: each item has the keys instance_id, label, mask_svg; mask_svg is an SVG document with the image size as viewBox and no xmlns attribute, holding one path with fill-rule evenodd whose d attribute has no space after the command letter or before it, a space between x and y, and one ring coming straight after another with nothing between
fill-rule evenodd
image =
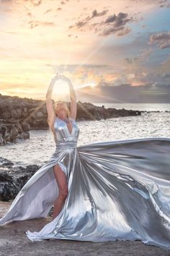
<instances>
[{"instance_id":1,"label":"shimmering silvery sea water on both sides of the woman","mask_svg":"<svg viewBox=\"0 0 170 256\"><path fill-rule=\"evenodd\" d=\"M170 138L170 104L94 103L105 108L125 108L146 111L141 116L117 117L97 121L77 121L79 145L93 142L117 141L149 137ZM153 112L161 111L161 112ZM169 112L166 112L169 111ZM0 156L17 161L19 165L42 165L55 151L53 134L49 129L30 130L30 139L18 140L0 147Z\"/></svg>"}]
</instances>

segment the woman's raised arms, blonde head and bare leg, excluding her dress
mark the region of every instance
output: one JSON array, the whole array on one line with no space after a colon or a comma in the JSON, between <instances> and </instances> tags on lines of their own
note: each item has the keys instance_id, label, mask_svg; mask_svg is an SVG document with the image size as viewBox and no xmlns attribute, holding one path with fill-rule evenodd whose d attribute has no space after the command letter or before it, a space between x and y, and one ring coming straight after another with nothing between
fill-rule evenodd
<instances>
[{"instance_id":1,"label":"woman's raised arms, blonde head and bare leg, excluding her dress","mask_svg":"<svg viewBox=\"0 0 170 256\"><path fill-rule=\"evenodd\" d=\"M62 101L56 102L53 106L51 95L53 92L53 86L55 85L55 82L58 79L63 79L63 80L66 80L66 82L68 82L68 85L70 88L70 95L71 95L71 104L70 104L71 111L69 111L66 104L63 103ZM75 94L75 91L73 90L73 85L71 81L68 80L67 77L60 76L57 74L53 78L48 88L48 92L46 94L46 106L48 111L48 124L50 126L50 129L53 132L54 137L55 137L55 130L53 128L53 125L54 125L56 116L58 116L58 118L60 118L61 120L66 121L66 124L68 126L68 132L71 133L73 129L71 124L71 119L76 120L76 94ZM54 203L54 208L53 208L53 218L55 218L56 216L58 216L58 213L60 213L61 208L63 207L63 203L65 202L66 197L68 195L68 185L67 185L66 174L63 173L61 167L58 164L56 164L55 166L53 166L53 168L54 168L55 179L59 189L59 195L57 200Z\"/></svg>"}]
</instances>

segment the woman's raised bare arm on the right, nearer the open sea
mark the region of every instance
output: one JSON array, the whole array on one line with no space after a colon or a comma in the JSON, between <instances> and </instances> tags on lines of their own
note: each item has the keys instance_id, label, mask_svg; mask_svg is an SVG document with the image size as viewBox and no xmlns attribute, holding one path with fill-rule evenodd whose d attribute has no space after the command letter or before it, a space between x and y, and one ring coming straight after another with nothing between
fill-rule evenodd
<instances>
[{"instance_id":1,"label":"woman's raised bare arm on the right, nearer the open sea","mask_svg":"<svg viewBox=\"0 0 170 256\"><path fill-rule=\"evenodd\" d=\"M71 98L71 105L70 105L70 116L72 119L76 120L76 114L77 114L77 103L76 103L76 93L73 88L71 80L68 79L68 77L65 77L64 75L61 76L63 80L66 80L68 82L68 86L70 89L70 98Z\"/></svg>"}]
</instances>

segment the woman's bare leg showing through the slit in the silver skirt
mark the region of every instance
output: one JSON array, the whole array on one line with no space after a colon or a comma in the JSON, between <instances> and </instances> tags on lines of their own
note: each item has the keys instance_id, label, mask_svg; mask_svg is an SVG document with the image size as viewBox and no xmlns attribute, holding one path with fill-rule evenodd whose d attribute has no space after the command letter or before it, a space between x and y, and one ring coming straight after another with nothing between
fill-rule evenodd
<instances>
[{"instance_id":1,"label":"woman's bare leg showing through the slit in the silver skirt","mask_svg":"<svg viewBox=\"0 0 170 256\"><path fill-rule=\"evenodd\" d=\"M68 195L68 185L67 185L66 174L64 174L64 172L61 170L61 167L58 164L53 167L53 171L54 171L55 179L59 189L58 198L54 202L54 208L53 208L53 219L54 219L56 216L58 216L58 214L61 212L63 208L63 204Z\"/></svg>"}]
</instances>

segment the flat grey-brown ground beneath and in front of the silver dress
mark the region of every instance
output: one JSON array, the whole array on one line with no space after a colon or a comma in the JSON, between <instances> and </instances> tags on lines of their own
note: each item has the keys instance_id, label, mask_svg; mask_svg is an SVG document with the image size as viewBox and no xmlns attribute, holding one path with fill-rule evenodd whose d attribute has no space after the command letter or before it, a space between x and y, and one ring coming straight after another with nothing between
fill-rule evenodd
<instances>
[{"instance_id":1,"label":"flat grey-brown ground beneath and in front of the silver dress","mask_svg":"<svg viewBox=\"0 0 170 256\"><path fill-rule=\"evenodd\" d=\"M0 216L8 210L10 202L0 202ZM40 218L28 221L14 221L0 227L0 255L13 256L46 256L46 255L132 255L132 256L168 256L170 251L143 244L140 241L115 242L77 242L71 240L50 239L42 242L31 242L25 231L40 231L51 218Z\"/></svg>"}]
</instances>

